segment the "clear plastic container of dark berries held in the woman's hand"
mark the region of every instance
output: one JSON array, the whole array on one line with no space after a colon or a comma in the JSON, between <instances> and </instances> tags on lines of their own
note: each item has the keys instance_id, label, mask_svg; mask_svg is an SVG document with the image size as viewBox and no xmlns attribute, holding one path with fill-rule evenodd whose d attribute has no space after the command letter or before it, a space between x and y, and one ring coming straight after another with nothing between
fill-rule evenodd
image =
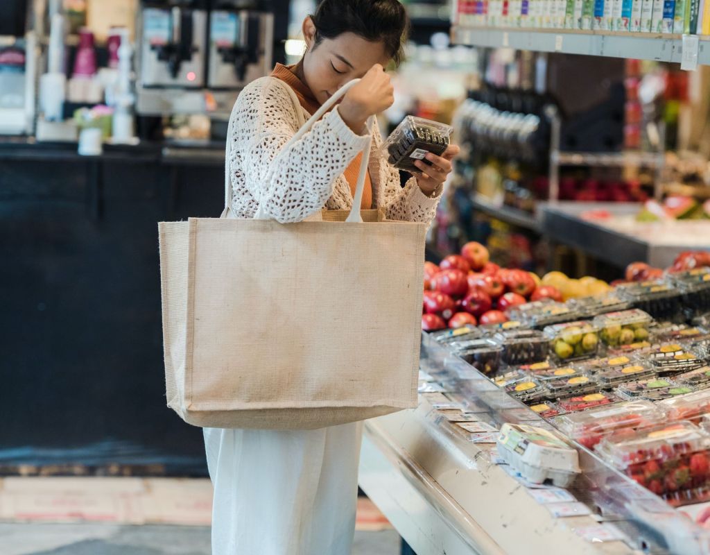
<instances>
[{"instance_id":1,"label":"clear plastic container of dark berries held in the woman's hand","mask_svg":"<svg viewBox=\"0 0 710 555\"><path fill-rule=\"evenodd\" d=\"M382 153L395 168L420 171L414 165L421 160L431 165L425 156L431 152L440 156L449 146L450 125L432 122L421 117L407 116L382 145Z\"/></svg>"}]
</instances>

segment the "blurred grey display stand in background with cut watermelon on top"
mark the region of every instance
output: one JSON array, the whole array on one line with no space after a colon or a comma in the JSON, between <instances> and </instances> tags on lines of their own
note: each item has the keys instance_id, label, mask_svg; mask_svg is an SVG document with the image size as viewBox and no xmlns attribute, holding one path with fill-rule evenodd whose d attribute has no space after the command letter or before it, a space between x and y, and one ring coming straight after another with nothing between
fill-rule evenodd
<instances>
[{"instance_id":1,"label":"blurred grey display stand in background with cut watermelon on top","mask_svg":"<svg viewBox=\"0 0 710 555\"><path fill-rule=\"evenodd\" d=\"M638 260L665 267L680 252L710 249L709 220L636 222L640 210L635 203L545 203L541 227L552 242L619 267Z\"/></svg>"}]
</instances>

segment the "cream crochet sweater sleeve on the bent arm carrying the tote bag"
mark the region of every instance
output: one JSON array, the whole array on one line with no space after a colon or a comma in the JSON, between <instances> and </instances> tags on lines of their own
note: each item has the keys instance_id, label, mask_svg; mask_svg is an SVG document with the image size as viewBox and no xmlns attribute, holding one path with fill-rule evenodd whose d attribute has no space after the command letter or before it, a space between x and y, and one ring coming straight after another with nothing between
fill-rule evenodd
<instances>
[{"instance_id":1,"label":"cream crochet sweater sleeve on the bent arm carrying the tote bag","mask_svg":"<svg viewBox=\"0 0 710 555\"><path fill-rule=\"evenodd\" d=\"M278 222L304 220L324 207L337 178L367 144L334 109L286 146L299 124L285 87L271 77L256 80L234 105L229 171L237 214L253 217L261 204Z\"/></svg>"}]
</instances>

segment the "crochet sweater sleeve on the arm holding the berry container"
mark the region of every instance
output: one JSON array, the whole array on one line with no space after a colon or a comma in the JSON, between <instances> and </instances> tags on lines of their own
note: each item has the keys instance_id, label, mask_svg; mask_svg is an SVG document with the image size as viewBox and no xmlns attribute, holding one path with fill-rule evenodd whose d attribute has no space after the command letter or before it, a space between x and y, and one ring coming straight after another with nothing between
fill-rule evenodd
<instances>
[{"instance_id":1,"label":"crochet sweater sleeve on the arm holding the berry container","mask_svg":"<svg viewBox=\"0 0 710 555\"><path fill-rule=\"evenodd\" d=\"M422 193L415 177L410 178L402 187L399 170L380 153L383 141L379 129L377 126L375 127L376 129L373 130L373 151L379 154L375 163L378 166L381 186L384 187L388 219L430 223L436 215L443 187L439 186L430 197Z\"/></svg>"}]
</instances>

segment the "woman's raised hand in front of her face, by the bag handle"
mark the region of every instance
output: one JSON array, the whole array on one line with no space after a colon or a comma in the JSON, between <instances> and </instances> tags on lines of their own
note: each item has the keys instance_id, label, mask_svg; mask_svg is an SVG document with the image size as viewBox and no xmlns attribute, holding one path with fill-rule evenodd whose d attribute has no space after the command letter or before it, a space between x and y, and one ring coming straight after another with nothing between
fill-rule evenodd
<instances>
[{"instance_id":1,"label":"woman's raised hand in front of her face, by the bag handle","mask_svg":"<svg viewBox=\"0 0 710 555\"><path fill-rule=\"evenodd\" d=\"M394 101L395 90L390 76L380 64L375 64L345 93L338 112L347 126L359 134L368 117L388 109Z\"/></svg>"}]
</instances>

